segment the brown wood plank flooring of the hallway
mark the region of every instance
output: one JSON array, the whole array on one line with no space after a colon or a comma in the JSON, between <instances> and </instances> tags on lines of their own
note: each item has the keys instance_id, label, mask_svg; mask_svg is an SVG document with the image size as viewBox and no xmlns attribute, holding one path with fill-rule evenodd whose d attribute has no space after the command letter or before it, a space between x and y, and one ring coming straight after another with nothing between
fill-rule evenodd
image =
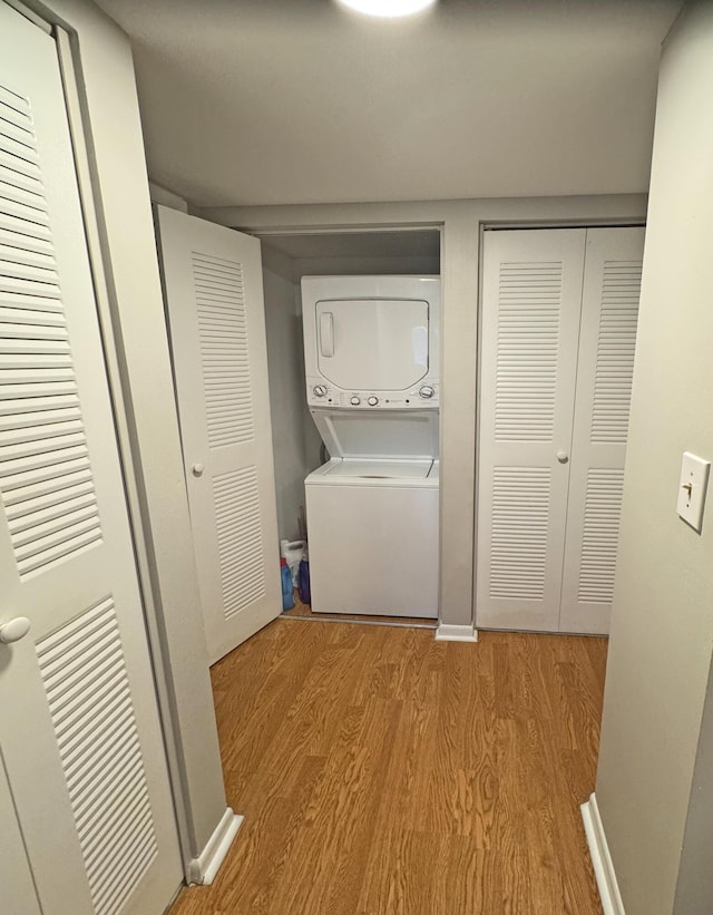
<instances>
[{"instance_id":1,"label":"brown wood plank flooring of the hallway","mask_svg":"<svg viewBox=\"0 0 713 915\"><path fill-rule=\"evenodd\" d=\"M277 619L217 663L245 822L170 915L600 915L606 641L480 637Z\"/></svg>"}]
</instances>

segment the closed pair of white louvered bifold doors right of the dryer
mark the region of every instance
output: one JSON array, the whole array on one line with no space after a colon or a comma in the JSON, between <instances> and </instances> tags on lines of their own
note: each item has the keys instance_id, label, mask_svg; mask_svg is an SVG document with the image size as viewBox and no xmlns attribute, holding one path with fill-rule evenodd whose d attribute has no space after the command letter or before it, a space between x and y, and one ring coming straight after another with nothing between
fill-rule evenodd
<instances>
[{"instance_id":1,"label":"closed pair of white louvered bifold doors right of the dryer","mask_svg":"<svg viewBox=\"0 0 713 915\"><path fill-rule=\"evenodd\" d=\"M486 233L476 621L608 631L643 228Z\"/></svg>"}]
</instances>

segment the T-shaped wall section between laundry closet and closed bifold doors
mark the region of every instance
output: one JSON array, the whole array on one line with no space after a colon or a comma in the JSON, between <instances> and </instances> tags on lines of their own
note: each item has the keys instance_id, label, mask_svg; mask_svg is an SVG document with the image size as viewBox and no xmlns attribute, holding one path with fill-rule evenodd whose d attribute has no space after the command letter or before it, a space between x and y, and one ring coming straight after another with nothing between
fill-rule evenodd
<instances>
[{"instance_id":1,"label":"T-shaped wall section between laundry closet and closed bifold doors","mask_svg":"<svg viewBox=\"0 0 713 915\"><path fill-rule=\"evenodd\" d=\"M211 207L197 215L247 231L442 226L440 614L472 623L478 262L484 224L635 222L642 195L316 206Z\"/></svg>"}]
</instances>

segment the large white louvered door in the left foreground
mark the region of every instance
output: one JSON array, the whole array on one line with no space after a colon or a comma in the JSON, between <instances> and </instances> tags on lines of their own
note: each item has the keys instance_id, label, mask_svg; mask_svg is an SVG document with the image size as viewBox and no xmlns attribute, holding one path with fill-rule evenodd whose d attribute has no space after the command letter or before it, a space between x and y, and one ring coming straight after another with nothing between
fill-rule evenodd
<instances>
[{"instance_id":1,"label":"large white louvered door in the left foreground","mask_svg":"<svg viewBox=\"0 0 713 915\"><path fill-rule=\"evenodd\" d=\"M0 582L31 622L0 747L41 911L160 912L180 859L57 53L3 3Z\"/></svg>"}]
</instances>

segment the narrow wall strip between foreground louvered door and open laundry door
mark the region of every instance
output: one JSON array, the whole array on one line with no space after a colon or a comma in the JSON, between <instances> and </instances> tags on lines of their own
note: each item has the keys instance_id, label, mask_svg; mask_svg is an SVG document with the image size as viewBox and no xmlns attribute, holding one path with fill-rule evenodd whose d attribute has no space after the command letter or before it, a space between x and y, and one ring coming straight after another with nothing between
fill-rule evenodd
<instances>
[{"instance_id":1,"label":"narrow wall strip between foreground louvered door and open laundry door","mask_svg":"<svg viewBox=\"0 0 713 915\"><path fill-rule=\"evenodd\" d=\"M107 278L98 294L108 296L127 408L119 427L136 469L133 520L145 543L139 565L153 649L163 649L163 658L156 655L162 713L177 736L169 760L185 800L178 816L187 864L225 812L225 792L131 51L125 33L87 0L29 2L72 36Z\"/></svg>"}]
</instances>

